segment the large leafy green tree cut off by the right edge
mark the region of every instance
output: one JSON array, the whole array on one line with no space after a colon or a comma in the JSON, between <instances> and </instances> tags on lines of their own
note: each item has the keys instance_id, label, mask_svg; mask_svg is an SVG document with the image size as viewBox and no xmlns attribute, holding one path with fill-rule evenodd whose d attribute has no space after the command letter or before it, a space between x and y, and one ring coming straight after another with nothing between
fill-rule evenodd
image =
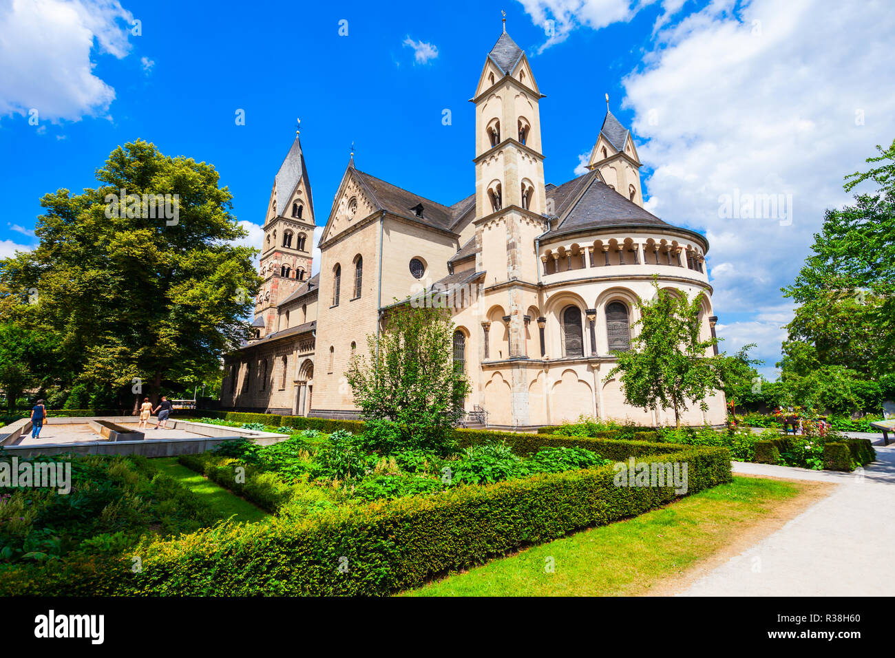
<instances>
[{"instance_id":1,"label":"large leafy green tree cut off by the right edge","mask_svg":"<svg viewBox=\"0 0 895 658\"><path fill-rule=\"evenodd\" d=\"M827 210L812 254L785 296L799 304L788 342L814 349L819 365L880 380L895 372L895 141L846 176L847 192L874 184L843 209ZM786 373L797 363L784 358Z\"/></svg>"}]
</instances>

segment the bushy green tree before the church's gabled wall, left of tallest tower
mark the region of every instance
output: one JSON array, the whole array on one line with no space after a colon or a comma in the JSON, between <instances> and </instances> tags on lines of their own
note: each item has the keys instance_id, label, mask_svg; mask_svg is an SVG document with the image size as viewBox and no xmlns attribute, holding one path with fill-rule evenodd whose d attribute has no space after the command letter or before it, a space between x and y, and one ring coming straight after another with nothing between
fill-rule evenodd
<instances>
[{"instance_id":1,"label":"bushy green tree before the church's gabled wall, left of tallest tower","mask_svg":"<svg viewBox=\"0 0 895 658\"><path fill-rule=\"evenodd\" d=\"M454 362L453 336L445 310L396 306L385 329L367 337L369 355L352 357L345 377L362 418L371 428L394 423L398 432L384 444L442 453L450 448L469 393L465 372Z\"/></svg>"}]
</instances>

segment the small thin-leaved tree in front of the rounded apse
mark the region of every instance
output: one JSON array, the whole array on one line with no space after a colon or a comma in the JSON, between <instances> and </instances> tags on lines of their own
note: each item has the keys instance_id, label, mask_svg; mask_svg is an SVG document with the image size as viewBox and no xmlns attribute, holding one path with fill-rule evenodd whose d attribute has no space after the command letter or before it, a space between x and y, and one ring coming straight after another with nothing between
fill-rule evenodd
<instances>
[{"instance_id":1,"label":"small thin-leaved tree in front of the rounded apse","mask_svg":"<svg viewBox=\"0 0 895 658\"><path fill-rule=\"evenodd\" d=\"M651 302L637 300L640 319L634 324L631 349L613 352L618 365L605 380L619 376L629 405L646 411L673 409L675 425L690 405L706 410L705 397L724 386L724 363L706 356L717 338L700 339L699 312L703 293L693 300L661 289L657 278Z\"/></svg>"}]
</instances>

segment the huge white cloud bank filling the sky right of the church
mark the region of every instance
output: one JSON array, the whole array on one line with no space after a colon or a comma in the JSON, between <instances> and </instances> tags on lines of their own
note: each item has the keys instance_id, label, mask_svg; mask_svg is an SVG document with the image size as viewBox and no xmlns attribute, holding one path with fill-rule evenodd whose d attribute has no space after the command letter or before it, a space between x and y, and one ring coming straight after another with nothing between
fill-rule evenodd
<instances>
[{"instance_id":1,"label":"huge white cloud bank filling the sky right of the church","mask_svg":"<svg viewBox=\"0 0 895 658\"><path fill-rule=\"evenodd\" d=\"M895 69L881 64L895 22L884 4L731 7L716 2L660 30L644 67L623 81L624 105L653 167L649 203L669 223L705 231L715 312L755 313L726 328L738 332L729 343L758 342L772 365L788 320L759 318L785 303L780 287L803 264L824 209L849 201L842 177L895 137ZM735 194L791 195L791 224L786 213L722 217L723 196Z\"/></svg>"}]
</instances>

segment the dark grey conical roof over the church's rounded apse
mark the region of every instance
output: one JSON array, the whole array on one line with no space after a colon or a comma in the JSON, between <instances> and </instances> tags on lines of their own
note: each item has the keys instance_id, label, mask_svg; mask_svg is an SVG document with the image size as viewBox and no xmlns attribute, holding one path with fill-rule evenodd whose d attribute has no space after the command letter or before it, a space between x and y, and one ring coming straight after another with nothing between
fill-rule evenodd
<instances>
[{"instance_id":1,"label":"dark grey conical roof over the church's rounded apse","mask_svg":"<svg viewBox=\"0 0 895 658\"><path fill-rule=\"evenodd\" d=\"M603 226L668 226L652 212L628 201L603 183L596 171L578 176L547 194L554 198L558 226L549 236Z\"/></svg>"}]
</instances>

